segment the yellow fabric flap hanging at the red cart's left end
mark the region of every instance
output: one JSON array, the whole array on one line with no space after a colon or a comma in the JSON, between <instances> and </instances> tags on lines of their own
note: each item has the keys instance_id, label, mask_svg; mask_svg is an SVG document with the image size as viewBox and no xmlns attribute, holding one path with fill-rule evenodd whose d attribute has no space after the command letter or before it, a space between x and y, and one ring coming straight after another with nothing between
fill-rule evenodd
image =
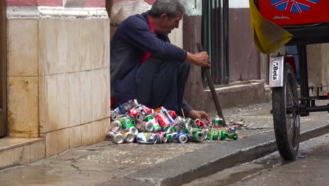
<instances>
[{"instance_id":1,"label":"yellow fabric flap hanging at the red cart's left end","mask_svg":"<svg viewBox=\"0 0 329 186\"><path fill-rule=\"evenodd\" d=\"M261 0L262 1L262 0ZM292 34L266 20L258 11L254 0L249 0L254 44L264 54L271 54L292 39Z\"/></svg>"}]
</instances>

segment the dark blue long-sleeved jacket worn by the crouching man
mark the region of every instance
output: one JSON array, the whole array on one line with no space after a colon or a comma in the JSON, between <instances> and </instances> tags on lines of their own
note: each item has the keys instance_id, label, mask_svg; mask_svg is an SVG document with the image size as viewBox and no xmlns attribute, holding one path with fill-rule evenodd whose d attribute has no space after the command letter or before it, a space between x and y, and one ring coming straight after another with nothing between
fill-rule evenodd
<instances>
[{"instance_id":1,"label":"dark blue long-sleeved jacket worn by the crouching man","mask_svg":"<svg viewBox=\"0 0 329 186\"><path fill-rule=\"evenodd\" d=\"M135 99L135 75L146 51L165 61L183 61L187 52L170 43L169 37L156 35L150 30L149 11L130 16L117 28L111 39L110 71L112 97L122 103ZM184 112L191 111L183 101Z\"/></svg>"}]
</instances>

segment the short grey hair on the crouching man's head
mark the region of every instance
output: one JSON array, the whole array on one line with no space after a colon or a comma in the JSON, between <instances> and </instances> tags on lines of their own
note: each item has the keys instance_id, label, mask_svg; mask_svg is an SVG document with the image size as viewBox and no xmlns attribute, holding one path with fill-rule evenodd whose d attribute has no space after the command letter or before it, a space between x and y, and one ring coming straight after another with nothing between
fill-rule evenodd
<instances>
[{"instance_id":1,"label":"short grey hair on the crouching man's head","mask_svg":"<svg viewBox=\"0 0 329 186\"><path fill-rule=\"evenodd\" d=\"M176 18L178 11L185 13L181 0L157 0L150 9L150 16L159 18L162 13L165 13L168 18Z\"/></svg>"}]
</instances>

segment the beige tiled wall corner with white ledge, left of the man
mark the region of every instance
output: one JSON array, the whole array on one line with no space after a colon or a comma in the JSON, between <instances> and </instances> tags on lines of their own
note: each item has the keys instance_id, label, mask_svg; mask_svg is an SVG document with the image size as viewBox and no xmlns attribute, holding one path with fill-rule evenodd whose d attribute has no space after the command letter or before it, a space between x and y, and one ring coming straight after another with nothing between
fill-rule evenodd
<instances>
[{"instance_id":1,"label":"beige tiled wall corner with white ledge, left of the man","mask_svg":"<svg viewBox=\"0 0 329 186\"><path fill-rule=\"evenodd\" d=\"M8 7L8 128L46 156L101 142L110 114L105 8Z\"/></svg>"}]
</instances>

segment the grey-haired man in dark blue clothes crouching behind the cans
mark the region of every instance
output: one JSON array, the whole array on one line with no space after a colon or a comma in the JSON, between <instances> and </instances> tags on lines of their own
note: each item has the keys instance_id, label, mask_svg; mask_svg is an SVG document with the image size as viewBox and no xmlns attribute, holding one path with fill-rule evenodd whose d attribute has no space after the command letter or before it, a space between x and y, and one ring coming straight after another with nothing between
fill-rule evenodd
<instances>
[{"instance_id":1,"label":"grey-haired man in dark blue clothes crouching behind the cans","mask_svg":"<svg viewBox=\"0 0 329 186\"><path fill-rule=\"evenodd\" d=\"M189 118L209 118L183 100L190 63L210 68L207 52L191 54L168 37L184 12L179 0L157 0L150 11L130 16L117 28L110 46L113 108L137 99L153 109L164 106L179 115L183 109Z\"/></svg>"}]
</instances>

